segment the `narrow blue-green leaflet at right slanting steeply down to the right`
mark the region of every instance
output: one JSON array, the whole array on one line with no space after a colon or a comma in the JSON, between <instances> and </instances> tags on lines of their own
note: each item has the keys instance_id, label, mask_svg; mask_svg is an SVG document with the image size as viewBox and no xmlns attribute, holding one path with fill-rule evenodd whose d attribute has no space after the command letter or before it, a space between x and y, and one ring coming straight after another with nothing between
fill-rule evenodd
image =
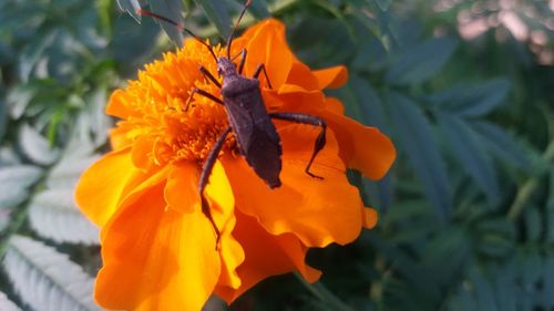
<instances>
[{"instance_id":1,"label":"narrow blue-green leaflet at right slanting steeply down to the right","mask_svg":"<svg viewBox=\"0 0 554 311\"><path fill-rule=\"evenodd\" d=\"M475 133L461 118L448 113L438 114L439 125L448 137L455 157L464 170L475 180L486 195L489 203L495 205L500 199L500 187L491 159Z\"/></svg>"}]
</instances>

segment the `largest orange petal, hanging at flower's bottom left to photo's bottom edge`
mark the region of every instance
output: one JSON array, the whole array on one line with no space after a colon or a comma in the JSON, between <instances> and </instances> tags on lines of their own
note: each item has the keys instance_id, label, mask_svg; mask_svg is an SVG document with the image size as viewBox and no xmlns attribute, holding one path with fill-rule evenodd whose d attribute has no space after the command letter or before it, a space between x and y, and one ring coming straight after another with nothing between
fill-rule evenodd
<instances>
[{"instance_id":1,"label":"largest orange petal, hanging at flower's bottom left to photo's bottom edge","mask_svg":"<svg viewBox=\"0 0 554 311\"><path fill-rule=\"evenodd\" d=\"M164 183L103 229L95 299L116 310L201 310L219 277L215 235L199 211L166 209ZM225 242L222 241L222 242Z\"/></svg>"}]
</instances>

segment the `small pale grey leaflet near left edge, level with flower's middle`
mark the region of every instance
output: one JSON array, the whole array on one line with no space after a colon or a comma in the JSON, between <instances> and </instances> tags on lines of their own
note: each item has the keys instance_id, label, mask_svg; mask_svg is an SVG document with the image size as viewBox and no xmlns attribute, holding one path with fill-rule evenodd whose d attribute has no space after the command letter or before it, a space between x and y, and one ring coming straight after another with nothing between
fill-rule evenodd
<instances>
[{"instance_id":1,"label":"small pale grey leaflet near left edge, level with flower's middle","mask_svg":"<svg viewBox=\"0 0 554 311\"><path fill-rule=\"evenodd\" d=\"M48 139L27 124L19 131L19 144L24 155L40 165L50 165L60 156L59 149L51 148Z\"/></svg>"}]
</instances>

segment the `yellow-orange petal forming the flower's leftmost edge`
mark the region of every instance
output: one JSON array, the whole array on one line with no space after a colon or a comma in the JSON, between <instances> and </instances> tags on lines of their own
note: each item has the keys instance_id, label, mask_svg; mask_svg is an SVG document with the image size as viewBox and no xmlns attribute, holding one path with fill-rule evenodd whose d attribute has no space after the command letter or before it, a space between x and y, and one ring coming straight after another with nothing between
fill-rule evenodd
<instances>
[{"instance_id":1,"label":"yellow-orange petal forming the flower's leftmost edge","mask_svg":"<svg viewBox=\"0 0 554 311\"><path fill-rule=\"evenodd\" d=\"M104 226L133 185L148 177L134 167L130 151L125 148L106 154L89 167L79 180L76 204L96 226Z\"/></svg>"}]
</instances>

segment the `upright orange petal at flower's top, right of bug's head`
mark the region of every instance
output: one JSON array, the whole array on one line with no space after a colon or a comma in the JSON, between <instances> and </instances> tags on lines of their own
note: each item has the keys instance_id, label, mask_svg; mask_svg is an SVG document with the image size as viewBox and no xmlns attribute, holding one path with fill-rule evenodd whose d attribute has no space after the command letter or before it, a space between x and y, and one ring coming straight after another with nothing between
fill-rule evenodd
<instances>
[{"instance_id":1,"label":"upright orange petal at flower's top, right of bug's head","mask_svg":"<svg viewBox=\"0 0 554 311\"><path fill-rule=\"evenodd\" d=\"M263 21L255 28L252 39L246 46L248 56L246 58L245 72L252 76L259 64L264 64L276 90L287 81L288 73L293 66L293 52L285 39L285 25L274 19ZM261 74L264 75L264 74ZM263 85L265 77L260 76Z\"/></svg>"}]
</instances>

